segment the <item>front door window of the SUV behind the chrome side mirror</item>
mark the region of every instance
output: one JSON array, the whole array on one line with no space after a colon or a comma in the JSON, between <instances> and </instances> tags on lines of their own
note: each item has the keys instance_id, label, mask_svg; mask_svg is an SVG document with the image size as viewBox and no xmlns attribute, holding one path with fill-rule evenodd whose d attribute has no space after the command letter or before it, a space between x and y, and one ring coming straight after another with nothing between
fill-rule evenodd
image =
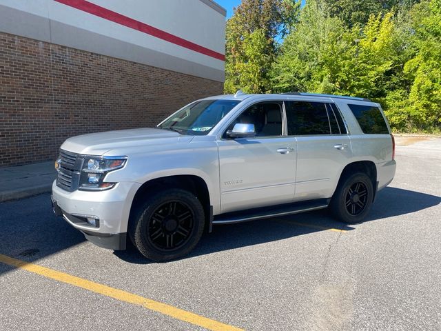
<instances>
[{"instance_id":1,"label":"front door window of the SUV behind the chrome side mirror","mask_svg":"<svg viewBox=\"0 0 441 331\"><path fill-rule=\"evenodd\" d=\"M279 103L256 103L240 114L227 130L232 130L236 123L254 124L256 137L281 136L282 108Z\"/></svg>"}]
</instances>

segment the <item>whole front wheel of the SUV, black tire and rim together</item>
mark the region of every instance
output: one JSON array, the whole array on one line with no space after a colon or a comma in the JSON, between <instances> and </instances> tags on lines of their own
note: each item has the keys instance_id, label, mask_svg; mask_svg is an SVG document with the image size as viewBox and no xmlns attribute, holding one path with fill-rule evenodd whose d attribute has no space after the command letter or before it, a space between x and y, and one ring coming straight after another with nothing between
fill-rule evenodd
<instances>
[{"instance_id":1,"label":"whole front wheel of the SUV, black tire and rim together","mask_svg":"<svg viewBox=\"0 0 441 331\"><path fill-rule=\"evenodd\" d=\"M201 202L186 190L169 189L149 197L134 212L129 236L147 259L163 262L192 251L204 224Z\"/></svg>"}]
</instances>

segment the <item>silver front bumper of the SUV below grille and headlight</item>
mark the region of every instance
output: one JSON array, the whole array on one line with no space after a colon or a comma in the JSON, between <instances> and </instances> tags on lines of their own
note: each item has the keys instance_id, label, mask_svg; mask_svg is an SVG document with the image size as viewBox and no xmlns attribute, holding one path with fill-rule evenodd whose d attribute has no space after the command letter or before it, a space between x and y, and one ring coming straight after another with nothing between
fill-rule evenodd
<instances>
[{"instance_id":1,"label":"silver front bumper of the SUV below grille and headlight","mask_svg":"<svg viewBox=\"0 0 441 331\"><path fill-rule=\"evenodd\" d=\"M125 249L127 224L139 183L117 183L111 190L68 192L52 184L55 214L62 216L85 238L103 248ZM94 223L88 223L93 219Z\"/></svg>"}]
</instances>

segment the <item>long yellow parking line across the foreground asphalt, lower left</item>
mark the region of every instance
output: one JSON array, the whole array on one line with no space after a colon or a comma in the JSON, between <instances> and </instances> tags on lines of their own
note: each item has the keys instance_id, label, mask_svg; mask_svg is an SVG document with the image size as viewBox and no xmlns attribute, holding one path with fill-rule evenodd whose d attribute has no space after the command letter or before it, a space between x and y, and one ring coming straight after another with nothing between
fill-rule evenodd
<instances>
[{"instance_id":1,"label":"long yellow parking line across the foreground asphalt, lower left","mask_svg":"<svg viewBox=\"0 0 441 331\"><path fill-rule=\"evenodd\" d=\"M54 279L56 281L61 281L62 283L74 285L78 288L84 288L85 290L99 293L105 295L106 297L111 297L120 301L132 303L134 305L141 305L142 307L149 310L160 312L161 314L173 317L174 319L186 321L188 323L201 326L208 330L243 330L235 328L232 325L227 325L218 321L214 321L212 319L207 319L207 317L202 317L192 312L187 312L186 310L175 308L172 305L167 305L165 303L154 301L152 299L147 299L136 294L125 292L123 290L111 288L110 286L95 283L94 281L88 281L87 279L75 277L71 274L65 274L64 272L45 268L41 265L36 265L26 261L14 259L3 254L0 254L0 262L7 265L12 265L15 268L20 268L22 270L33 272L34 274L39 274L41 276Z\"/></svg>"}]
</instances>

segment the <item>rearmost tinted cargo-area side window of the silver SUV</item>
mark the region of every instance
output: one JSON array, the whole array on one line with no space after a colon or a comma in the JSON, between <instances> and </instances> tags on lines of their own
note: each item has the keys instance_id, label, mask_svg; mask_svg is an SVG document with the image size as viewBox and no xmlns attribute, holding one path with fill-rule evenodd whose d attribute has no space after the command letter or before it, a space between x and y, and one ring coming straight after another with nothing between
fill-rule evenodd
<instances>
[{"instance_id":1,"label":"rearmost tinted cargo-area side window of the silver SUV","mask_svg":"<svg viewBox=\"0 0 441 331\"><path fill-rule=\"evenodd\" d=\"M380 108L362 105L347 105L356 117L363 133L367 134L389 134L384 117Z\"/></svg>"}]
</instances>

